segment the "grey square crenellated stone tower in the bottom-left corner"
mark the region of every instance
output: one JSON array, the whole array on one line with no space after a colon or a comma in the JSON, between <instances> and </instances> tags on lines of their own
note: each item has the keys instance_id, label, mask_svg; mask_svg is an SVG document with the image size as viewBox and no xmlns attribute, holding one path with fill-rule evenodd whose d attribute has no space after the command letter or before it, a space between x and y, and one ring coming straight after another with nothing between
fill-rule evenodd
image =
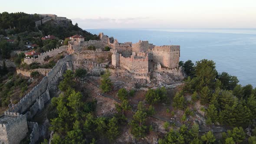
<instances>
[{"instance_id":1,"label":"grey square crenellated stone tower in the bottom-left corner","mask_svg":"<svg viewBox=\"0 0 256 144\"><path fill-rule=\"evenodd\" d=\"M27 133L26 115L5 111L0 116L0 144L20 144Z\"/></svg>"}]
</instances>

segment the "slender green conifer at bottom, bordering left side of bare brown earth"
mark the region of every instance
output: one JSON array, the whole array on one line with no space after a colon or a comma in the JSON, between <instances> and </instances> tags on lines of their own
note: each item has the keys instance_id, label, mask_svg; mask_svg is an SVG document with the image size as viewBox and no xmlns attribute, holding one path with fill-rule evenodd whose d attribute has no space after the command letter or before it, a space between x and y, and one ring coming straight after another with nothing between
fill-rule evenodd
<instances>
[{"instance_id":1,"label":"slender green conifer at bottom, bordering left side of bare brown earth","mask_svg":"<svg viewBox=\"0 0 256 144\"><path fill-rule=\"evenodd\" d=\"M114 140L118 135L119 135L119 130L118 130L118 121L117 118L113 117L109 120L108 122L108 139L109 140Z\"/></svg>"}]
</instances>

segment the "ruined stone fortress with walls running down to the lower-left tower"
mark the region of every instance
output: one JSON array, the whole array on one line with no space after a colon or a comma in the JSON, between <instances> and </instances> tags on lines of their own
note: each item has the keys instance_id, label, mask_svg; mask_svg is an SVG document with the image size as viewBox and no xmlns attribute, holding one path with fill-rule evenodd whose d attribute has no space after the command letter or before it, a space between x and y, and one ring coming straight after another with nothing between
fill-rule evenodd
<instances>
[{"instance_id":1,"label":"ruined stone fortress with walls running down to the lower-left tower","mask_svg":"<svg viewBox=\"0 0 256 144\"><path fill-rule=\"evenodd\" d=\"M132 79L131 82L134 80L139 84L172 84L184 78L183 72L178 68L180 46L154 46L141 40L134 44L118 43L116 39L103 33L99 34L99 38L100 40L84 41L82 36L73 36L68 46L25 61L40 62L46 56L54 56L63 51L69 53L56 63L38 85L17 104L10 104L9 109L0 116L0 144L19 144L27 135L30 137L30 144L35 144L39 137L44 136L41 126L30 121L58 91L57 85L67 69L84 68L91 75L100 75L108 69L116 77L126 76ZM88 50L89 46L94 46L95 50ZM104 51L106 46L111 48L110 51Z\"/></svg>"}]
</instances>

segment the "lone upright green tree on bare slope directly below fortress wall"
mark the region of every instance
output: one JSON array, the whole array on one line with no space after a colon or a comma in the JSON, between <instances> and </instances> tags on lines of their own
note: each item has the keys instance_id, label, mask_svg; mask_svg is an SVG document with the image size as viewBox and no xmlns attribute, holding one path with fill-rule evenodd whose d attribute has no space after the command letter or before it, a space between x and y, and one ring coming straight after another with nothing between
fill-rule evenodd
<instances>
[{"instance_id":1,"label":"lone upright green tree on bare slope directly below fortress wall","mask_svg":"<svg viewBox=\"0 0 256 144\"><path fill-rule=\"evenodd\" d=\"M112 82L109 79L110 72L107 70L104 75L101 75L101 85L100 88L102 89L102 92L109 92L111 91Z\"/></svg>"}]
</instances>

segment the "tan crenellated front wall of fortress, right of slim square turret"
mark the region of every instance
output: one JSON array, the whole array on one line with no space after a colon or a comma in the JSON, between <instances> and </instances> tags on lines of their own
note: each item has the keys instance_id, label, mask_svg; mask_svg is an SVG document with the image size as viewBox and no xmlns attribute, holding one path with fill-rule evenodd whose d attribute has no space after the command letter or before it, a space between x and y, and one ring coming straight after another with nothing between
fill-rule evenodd
<instances>
[{"instance_id":1,"label":"tan crenellated front wall of fortress, right of slim square turret","mask_svg":"<svg viewBox=\"0 0 256 144\"><path fill-rule=\"evenodd\" d=\"M143 55L144 57L141 57ZM120 57L120 67L127 69L131 73L135 74L148 74L148 54L133 53L131 57L125 58L121 54Z\"/></svg>"}]
</instances>

